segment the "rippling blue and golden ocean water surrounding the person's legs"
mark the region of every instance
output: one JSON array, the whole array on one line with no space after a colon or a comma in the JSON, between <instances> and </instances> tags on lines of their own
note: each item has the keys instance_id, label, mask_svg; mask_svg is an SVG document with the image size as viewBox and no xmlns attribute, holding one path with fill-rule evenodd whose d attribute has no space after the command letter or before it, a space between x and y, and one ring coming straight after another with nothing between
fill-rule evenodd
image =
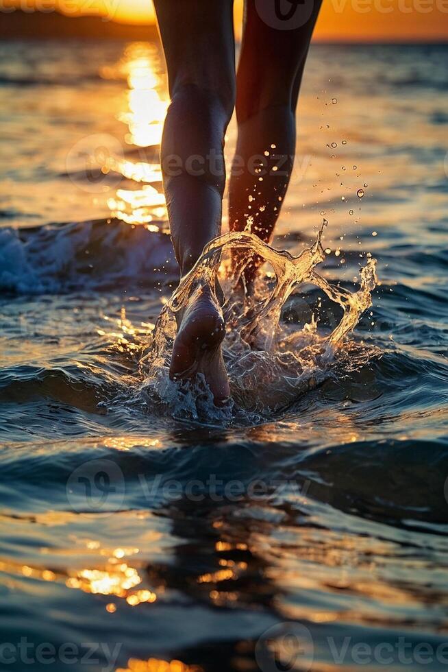
<instances>
[{"instance_id":1,"label":"rippling blue and golden ocean water surrounding the person's legs","mask_svg":"<svg viewBox=\"0 0 448 672\"><path fill-rule=\"evenodd\" d=\"M257 350L229 333L220 414L153 356L158 45L0 45L2 670L445 669L447 56L312 47L273 248L317 250L325 219L323 280ZM327 352L322 287L352 305L373 259Z\"/></svg>"}]
</instances>

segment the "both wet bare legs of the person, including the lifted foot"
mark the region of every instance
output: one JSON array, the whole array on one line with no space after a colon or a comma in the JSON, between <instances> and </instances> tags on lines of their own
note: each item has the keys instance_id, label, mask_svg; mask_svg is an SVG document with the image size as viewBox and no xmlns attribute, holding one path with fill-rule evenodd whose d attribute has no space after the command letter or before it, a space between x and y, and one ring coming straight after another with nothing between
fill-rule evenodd
<instances>
[{"instance_id":1,"label":"both wet bare legs of the person, including the lifted foot","mask_svg":"<svg viewBox=\"0 0 448 672\"><path fill-rule=\"evenodd\" d=\"M162 173L171 237L184 276L204 245L221 232L223 143L236 88L233 2L155 0L154 4L171 95L162 138ZM231 230L243 230L248 197L256 196L251 208L258 212L253 232L264 241L273 232L293 168L295 107L319 6L318 0L303 27L280 31L260 19L255 0L246 3L236 98L236 154L243 169L238 176L232 171L229 221ZM264 155L271 145L285 159L283 174L273 171L260 182L248 167L255 155ZM253 260L247 268L247 283L253 280L258 263ZM193 291L177 326L171 376L185 379L203 373L215 403L220 403L229 396L221 354L225 327L211 287Z\"/></svg>"}]
</instances>

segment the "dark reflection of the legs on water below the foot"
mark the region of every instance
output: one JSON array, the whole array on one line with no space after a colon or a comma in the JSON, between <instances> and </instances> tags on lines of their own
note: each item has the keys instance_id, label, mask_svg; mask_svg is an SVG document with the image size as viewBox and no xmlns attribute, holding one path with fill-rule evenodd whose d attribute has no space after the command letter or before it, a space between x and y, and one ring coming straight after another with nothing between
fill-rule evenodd
<instances>
[{"instance_id":1,"label":"dark reflection of the legs on water below the foot","mask_svg":"<svg viewBox=\"0 0 448 672\"><path fill-rule=\"evenodd\" d=\"M182 438L184 436L183 431ZM201 438L210 441L210 432L204 433L203 437L200 435L199 440ZM215 440L219 442L219 437ZM191 448L197 446L196 429L192 432L191 442ZM214 446L212 448L214 452ZM239 447L229 465L237 464L237 455L240 455ZM246 457L240 455L240 460L246 463L245 470L250 472L256 468L253 456L249 453L246 453ZM208 464L212 463L209 456ZM214 468L219 470L216 463ZM201 476L201 472L199 464L195 481L210 479L210 468L207 474ZM219 490L211 488L214 499L219 499L229 481L234 483L232 475L238 477L238 470L232 472L232 466L229 466L227 476L216 473L216 479L221 479L223 485ZM200 499L198 488L194 488L192 493L193 499ZM214 501L210 497L210 488L204 491L203 501L192 501L188 496L177 499L162 514L170 518L171 536L177 540L173 555L170 555L169 562L151 564L147 568L148 581L155 592L171 593L176 603L178 598L175 596L180 595L180 603L186 605L186 612L194 609L198 633L210 630L210 619L218 619L216 622L222 623L219 611L222 610L224 615L232 613L229 608L235 610L235 616L227 616L227 619L232 619L234 626L228 629L225 642L219 636L213 640L212 635L205 645L167 651L171 658L182 660L188 665L197 665L203 672L231 672L239 669L235 665L236 658L247 662L247 669L254 669L255 643L245 633L247 614L256 614L260 634L278 618L274 598L278 598L281 591L267 576L269 564L264 560L262 552L251 547L251 521L238 520L236 515L239 509L248 504L250 501L247 496L237 503L229 502L228 499ZM262 523L255 519L253 525L259 531ZM253 636L253 627L250 629ZM152 655L152 652L149 651L149 654Z\"/></svg>"}]
</instances>

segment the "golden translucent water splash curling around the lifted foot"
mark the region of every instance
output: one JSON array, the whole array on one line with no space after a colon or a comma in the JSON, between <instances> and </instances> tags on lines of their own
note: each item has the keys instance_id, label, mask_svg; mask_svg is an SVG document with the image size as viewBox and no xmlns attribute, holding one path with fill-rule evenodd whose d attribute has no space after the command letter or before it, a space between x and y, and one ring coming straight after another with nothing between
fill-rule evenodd
<instances>
[{"instance_id":1,"label":"golden translucent water splash curling around the lifted foot","mask_svg":"<svg viewBox=\"0 0 448 672\"><path fill-rule=\"evenodd\" d=\"M223 305L227 324L223 356L238 409L266 418L327 379L341 355L346 357L347 350L356 348L346 337L371 306L377 276L376 261L369 257L361 269L358 291L328 283L316 271L316 266L325 260L322 235L323 228L314 245L305 248L299 256L275 250L249 231L230 232L210 241L160 313L147 355L140 363L146 392L169 405L175 416L198 418L213 406L204 381L178 385L169 381L168 370L176 331L175 313L184 308L200 287L219 287L220 282L228 297ZM234 267L232 273L223 278L225 255L229 252L232 252ZM241 278L253 257L269 263L275 280L258 283L255 293L249 297L241 289ZM342 309L343 317L330 333L318 331L319 320L315 314L299 329L296 326L291 330L281 321L284 303L301 285L318 287ZM359 352L353 356L358 363L362 359ZM233 412L235 410L236 407ZM229 409L224 412L228 417ZM222 411L213 407L212 415L216 413Z\"/></svg>"}]
</instances>

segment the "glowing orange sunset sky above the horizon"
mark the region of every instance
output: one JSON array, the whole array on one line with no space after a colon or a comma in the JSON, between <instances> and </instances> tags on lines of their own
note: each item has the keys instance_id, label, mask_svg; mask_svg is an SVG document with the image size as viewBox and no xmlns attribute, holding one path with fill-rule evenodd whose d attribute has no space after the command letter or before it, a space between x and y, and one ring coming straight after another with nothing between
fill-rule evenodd
<instances>
[{"instance_id":1,"label":"glowing orange sunset sky above the horizon","mask_svg":"<svg viewBox=\"0 0 448 672\"><path fill-rule=\"evenodd\" d=\"M22 7L23 0L10 0ZM26 0L27 6L42 0ZM45 0L65 14L100 11L124 23L154 23L151 0ZM236 32L242 0L236 0ZM448 40L448 0L323 0L314 34L329 41Z\"/></svg>"}]
</instances>

